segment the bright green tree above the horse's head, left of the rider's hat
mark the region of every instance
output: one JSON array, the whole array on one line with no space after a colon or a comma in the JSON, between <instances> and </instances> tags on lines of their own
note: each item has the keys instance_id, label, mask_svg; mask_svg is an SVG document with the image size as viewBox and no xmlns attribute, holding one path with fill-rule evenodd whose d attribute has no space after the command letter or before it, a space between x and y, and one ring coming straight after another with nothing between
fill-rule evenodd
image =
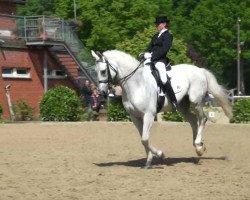
<instances>
[{"instance_id":1,"label":"bright green tree above the horse's head, left of the rider's hat","mask_svg":"<svg viewBox=\"0 0 250 200\"><path fill-rule=\"evenodd\" d=\"M85 0L78 6L78 19L83 22L79 34L89 48L100 51L113 49L118 42L144 30L159 9L146 0Z\"/></svg>"}]
</instances>

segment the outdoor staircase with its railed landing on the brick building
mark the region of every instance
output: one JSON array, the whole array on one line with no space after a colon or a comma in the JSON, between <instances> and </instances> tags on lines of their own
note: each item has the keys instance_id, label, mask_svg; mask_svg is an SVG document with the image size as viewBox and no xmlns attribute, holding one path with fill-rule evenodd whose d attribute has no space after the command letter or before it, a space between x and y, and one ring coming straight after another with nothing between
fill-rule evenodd
<instances>
[{"instance_id":1,"label":"outdoor staircase with its railed landing on the brick building","mask_svg":"<svg viewBox=\"0 0 250 200\"><path fill-rule=\"evenodd\" d=\"M78 79L88 79L97 84L96 74L88 63L79 60L77 55L84 49L84 45L79 40L73 29L64 22L63 19L32 16L24 17L19 22L20 31L24 35L26 45L47 46L48 51L61 66L71 81L77 85ZM41 33L45 37L41 37Z\"/></svg>"}]
</instances>

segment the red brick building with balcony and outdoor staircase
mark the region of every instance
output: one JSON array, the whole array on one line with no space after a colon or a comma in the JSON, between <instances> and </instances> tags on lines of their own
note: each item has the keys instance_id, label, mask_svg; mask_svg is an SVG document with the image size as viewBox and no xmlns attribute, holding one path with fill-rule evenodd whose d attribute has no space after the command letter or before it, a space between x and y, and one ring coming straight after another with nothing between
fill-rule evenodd
<instances>
[{"instance_id":1,"label":"red brick building with balcony and outdoor staircase","mask_svg":"<svg viewBox=\"0 0 250 200\"><path fill-rule=\"evenodd\" d=\"M16 16L16 4L25 0L0 0L0 104L3 117L10 117L8 93L12 104L22 99L38 117L48 89L65 85L78 91L79 78L96 79L77 57L83 46L63 19Z\"/></svg>"}]
</instances>

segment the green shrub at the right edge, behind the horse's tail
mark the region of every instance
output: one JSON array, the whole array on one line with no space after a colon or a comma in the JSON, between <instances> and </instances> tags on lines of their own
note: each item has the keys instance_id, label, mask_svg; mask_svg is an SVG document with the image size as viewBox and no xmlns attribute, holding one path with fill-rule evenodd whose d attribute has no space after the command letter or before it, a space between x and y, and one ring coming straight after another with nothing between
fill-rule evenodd
<instances>
[{"instance_id":1,"label":"green shrub at the right edge, behind the horse's tail","mask_svg":"<svg viewBox=\"0 0 250 200\"><path fill-rule=\"evenodd\" d=\"M239 99L233 106L232 123L250 123L250 99Z\"/></svg>"}]
</instances>

